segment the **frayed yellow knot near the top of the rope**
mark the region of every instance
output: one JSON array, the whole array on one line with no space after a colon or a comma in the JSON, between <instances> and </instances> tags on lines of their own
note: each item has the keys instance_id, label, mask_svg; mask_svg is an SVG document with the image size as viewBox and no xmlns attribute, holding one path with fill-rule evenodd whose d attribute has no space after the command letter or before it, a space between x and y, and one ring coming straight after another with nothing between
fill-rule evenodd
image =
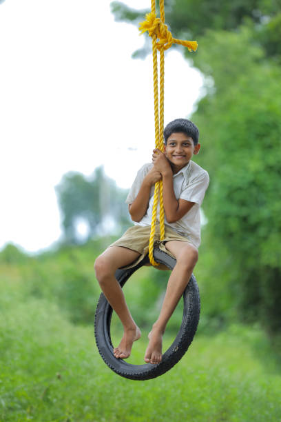
<instances>
[{"instance_id":1,"label":"frayed yellow knot near the top of the rope","mask_svg":"<svg viewBox=\"0 0 281 422\"><path fill-rule=\"evenodd\" d=\"M182 41L180 39L174 38L171 32L168 30L167 25L163 23L158 17L156 17L154 12L147 13L145 18L145 21L140 23L139 30L141 31L141 34L147 31L149 37L153 37L154 35L156 36L156 39L158 39L156 43L158 50L161 50L161 48L167 50L172 46L173 43L185 46L189 49L189 51L197 50L196 41Z\"/></svg>"}]
</instances>

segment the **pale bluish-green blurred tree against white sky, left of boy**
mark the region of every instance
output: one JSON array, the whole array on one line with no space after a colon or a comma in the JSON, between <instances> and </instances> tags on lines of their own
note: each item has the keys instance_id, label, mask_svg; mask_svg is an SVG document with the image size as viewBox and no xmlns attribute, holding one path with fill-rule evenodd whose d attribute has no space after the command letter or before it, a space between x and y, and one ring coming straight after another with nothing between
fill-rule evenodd
<instances>
[{"instance_id":1,"label":"pale bluish-green blurred tree against white sky, left of boy","mask_svg":"<svg viewBox=\"0 0 281 422\"><path fill-rule=\"evenodd\" d=\"M129 222L127 191L105 176L103 168L96 168L92 177L70 172L56 186L61 214L63 215L64 240L79 243L77 223L83 221L88 228L87 238L110 231L108 224L114 221L114 232L121 233ZM114 214L112 213L114 210ZM108 221L110 220L110 223Z\"/></svg>"}]
</instances>

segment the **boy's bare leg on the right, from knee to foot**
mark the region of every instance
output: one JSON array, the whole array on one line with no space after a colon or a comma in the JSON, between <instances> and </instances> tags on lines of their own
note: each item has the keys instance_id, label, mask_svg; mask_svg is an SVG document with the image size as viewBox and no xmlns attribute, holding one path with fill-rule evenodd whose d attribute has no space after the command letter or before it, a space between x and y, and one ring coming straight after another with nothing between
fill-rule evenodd
<instances>
[{"instance_id":1,"label":"boy's bare leg on the right, from knee to foot","mask_svg":"<svg viewBox=\"0 0 281 422\"><path fill-rule=\"evenodd\" d=\"M149 332L149 343L145 352L145 362L147 363L160 363L162 359L162 338L167 322L185 291L198 261L198 250L191 243L168 241L165 243L165 247L176 257L176 265L169 277L165 299L158 319L154 323L152 331Z\"/></svg>"}]
</instances>

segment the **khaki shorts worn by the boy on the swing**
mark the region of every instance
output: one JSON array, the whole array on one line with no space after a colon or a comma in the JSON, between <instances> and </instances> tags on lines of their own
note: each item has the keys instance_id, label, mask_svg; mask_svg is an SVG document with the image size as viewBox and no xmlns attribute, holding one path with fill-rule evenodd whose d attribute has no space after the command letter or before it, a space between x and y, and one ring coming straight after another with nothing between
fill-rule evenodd
<instances>
[{"instance_id":1,"label":"khaki shorts worn by the boy on the swing","mask_svg":"<svg viewBox=\"0 0 281 422\"><path fill-rule=\"evenodd\" d=\"M149 237L150 237L150 225L134 225L133 227L130 227L123 236L116 240L112 245L110 245L110 248L112 246L123 246L123 248L128 248L131 250L135 250L136 252L140 253L141 256L134 261L131 265L128 265L125 268L132 268L136 264L138 264L148 253L149 248ZM165 239L163 241L160 241L160 225L159 223L156 223L155 228L155 236L154 236L154 248L159 248L160 250L163 250L167 254L169 254L171 257L174 257L174 254L169 252L165 248L165 243L168 241L182 241L191 243L187 237L181 236L174 230L172 230L168 225L165 224ZM167 267L165 265L157 265L159 270L167 270Z\"/></svg>"}]
</instances>

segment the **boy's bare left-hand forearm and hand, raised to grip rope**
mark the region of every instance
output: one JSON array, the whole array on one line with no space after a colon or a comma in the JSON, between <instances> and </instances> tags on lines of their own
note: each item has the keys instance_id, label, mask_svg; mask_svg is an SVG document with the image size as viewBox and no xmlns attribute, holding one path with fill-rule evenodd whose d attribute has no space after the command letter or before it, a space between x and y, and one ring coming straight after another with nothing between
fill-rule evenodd
<instances>
[{"instance_id":1,"label":"boy's bare left-hand forearm and hand, raised to grip rope","mask_svg":"<svg viewBox=\"0 0 281 422\"><path fill-rule=\"evenodd\" d=\"M141 221L147 212L152 185L161 178L162 176L160 172L153 167L143 179L143 183L141 184L141 188L138 191L136 199L134 199L134 202L129 204L129 214L131 215L133 221L138 223L138 221Z\"/></svg>"}]
</instances>

